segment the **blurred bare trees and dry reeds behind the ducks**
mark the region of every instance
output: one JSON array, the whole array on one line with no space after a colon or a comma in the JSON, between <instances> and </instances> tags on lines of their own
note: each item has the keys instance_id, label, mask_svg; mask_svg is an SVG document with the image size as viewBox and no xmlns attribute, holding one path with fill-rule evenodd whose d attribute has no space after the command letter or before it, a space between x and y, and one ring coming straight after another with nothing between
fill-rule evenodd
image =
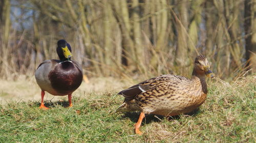
<instances>
[{"instance_id":1,"label":"blurred bare trees and dry reeds behind the ducks","mask_svg":"<svg viewBox=\"0 0 256 143\"><path fill-rule=\"evenodd\" d=\"M59 39L90 76L188 76L198 54L223 79L256 65L255 0L0 0L0 77L33 76Z\"/></svg>"}]
</instances>

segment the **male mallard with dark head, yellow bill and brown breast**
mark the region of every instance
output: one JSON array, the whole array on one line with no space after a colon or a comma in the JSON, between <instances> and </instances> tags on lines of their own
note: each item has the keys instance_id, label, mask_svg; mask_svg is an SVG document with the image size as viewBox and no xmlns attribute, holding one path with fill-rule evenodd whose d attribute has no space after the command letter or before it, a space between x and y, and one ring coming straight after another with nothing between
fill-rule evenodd
<instances>
[{"instance_id":1,"label":"male mallard with dark head, yellow bill and brown breast","mask_svg":"<svg viewBox=\"0 0 256 143\"><path fill-rule=\"evenodd\" d=\"M41 88L41 105L39 108L48 109L44 105L45 91L52 95L69 97L72 107L72 93L82 82L82 68L77 62L71 61L71 46L65 40L57 42L57 54L60 60L42 62L35 71L35 79Z\"/></svg>"}]
</instances>

